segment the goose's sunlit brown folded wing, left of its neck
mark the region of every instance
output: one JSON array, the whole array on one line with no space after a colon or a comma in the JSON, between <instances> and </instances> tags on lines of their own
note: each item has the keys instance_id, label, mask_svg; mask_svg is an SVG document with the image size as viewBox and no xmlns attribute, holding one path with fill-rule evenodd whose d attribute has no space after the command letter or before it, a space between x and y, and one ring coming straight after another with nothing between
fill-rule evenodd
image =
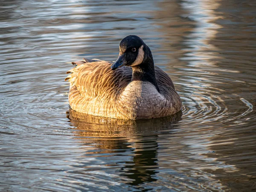
<instances>
[{"instance_id":1,"label":"goose's sunlit brown folded wing, left of its neck","mask_svg":"<svg viewBox=\"0 0 256 192\"><path fill-rule=\"evenodd\" d=\"M70 81L70 106L76 103L76 107L74 105L73 108L76 111L81 111L76 108L83 108L95 99L99 103L104 103L110 98L114 99L131 81L130 67L121 67L112 71L112 62L100 60L89 63L84 60L74 64L77 66L67 71L70 75L65 80Z\"/></svg>"}]
</instances>

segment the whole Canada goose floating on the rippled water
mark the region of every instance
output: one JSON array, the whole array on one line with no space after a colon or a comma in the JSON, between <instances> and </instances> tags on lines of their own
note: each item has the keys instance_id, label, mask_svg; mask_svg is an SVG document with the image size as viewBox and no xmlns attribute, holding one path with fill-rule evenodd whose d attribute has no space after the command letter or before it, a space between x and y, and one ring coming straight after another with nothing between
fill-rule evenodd
<instances>
[{"instance_id":1,"label":"whole Canada goose floating on the rippled water","mask_svg":"<svg viewBox=\"0 0 256 192\"><path fill-rule=\"evenodd\" d=\"M151 119L181 110L170 77L154 66L149 47L136 35L119 45L116 62L84 59L70 81L70 107L78 112L116 119Z\"/></svg>"}]
</instances>

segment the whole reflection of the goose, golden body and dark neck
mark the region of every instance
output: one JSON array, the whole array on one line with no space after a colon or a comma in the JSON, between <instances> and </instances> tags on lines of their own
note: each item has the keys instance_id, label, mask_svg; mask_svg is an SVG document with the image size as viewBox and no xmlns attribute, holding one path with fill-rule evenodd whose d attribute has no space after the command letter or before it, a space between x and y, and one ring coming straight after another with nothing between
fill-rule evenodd
<instances>
[{"instance_id":1,"label":"whole reflection of the goose, golden body and dark neck","mask_svg":"<svg viewBox=\"0 0 256 192\"><path fill-rule=\"evenodd\" d=\"M147 120L122 120L92 116L70 109L67 118L74 126L78 138L84 145L93 143L96 150L88 154L114 154L125 156L119 175L123 183L138 186L157 180L157 131L169 130L180 121L182 112L175 116ZM131 158L129 158L131 157Z\"/></svg>"}]
</instances>

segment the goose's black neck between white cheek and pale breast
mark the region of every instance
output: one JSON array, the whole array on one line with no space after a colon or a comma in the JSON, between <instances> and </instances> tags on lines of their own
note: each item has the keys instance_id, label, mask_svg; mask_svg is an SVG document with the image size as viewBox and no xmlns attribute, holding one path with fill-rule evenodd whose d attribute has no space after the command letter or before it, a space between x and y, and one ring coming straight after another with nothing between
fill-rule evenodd
<instances>
[{"instance_id":1,"label":"goose's black neck between white cheek and pale breast","mask_svg":"<svg viewBox=\"0 0 256 192\"><path fill-rule=\"evenodd\" d=\"M143 48L145 55L144 60L141 64L131 67L132 68L132 78L131 81L148 81L153 84L157 91L159 92L159 87L157 85L157 80L154 71L154 60L151 50L148 46L144 45ZM147 55L147 56L146 56Z\"/></svg>"}]
</instances>

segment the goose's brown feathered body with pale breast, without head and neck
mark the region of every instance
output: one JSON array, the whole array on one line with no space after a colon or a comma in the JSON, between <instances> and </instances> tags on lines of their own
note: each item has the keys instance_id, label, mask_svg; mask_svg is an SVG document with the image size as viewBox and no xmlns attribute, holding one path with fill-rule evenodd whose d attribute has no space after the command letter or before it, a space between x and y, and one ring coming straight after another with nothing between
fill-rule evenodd
<instances>
[{"instance_id":1,"label":"goose's brown feathered body with pale breast, without head and neck","mask_svg":"<svg viewBox=\"0 0 256 192\"><path fill-rule=\"evenodd\" d=\"M116 119L150 119L181 110L172 80L159 67L155 67L155 75L160 92L148 81L131 81L131 67L112 71L113 63L107 61L76 64L65 79L70 81L69 103L75 111Z\"/></svg>"}]
</instances>

